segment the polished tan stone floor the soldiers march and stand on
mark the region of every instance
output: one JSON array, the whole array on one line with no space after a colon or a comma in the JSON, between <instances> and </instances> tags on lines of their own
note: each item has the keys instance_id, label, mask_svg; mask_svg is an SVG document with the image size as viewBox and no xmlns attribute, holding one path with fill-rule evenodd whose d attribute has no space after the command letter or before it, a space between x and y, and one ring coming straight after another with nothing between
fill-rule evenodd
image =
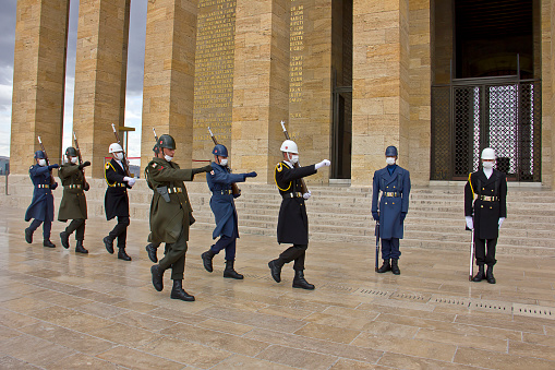
<instances>
[{"instance_id":1,"label":"polished tan stone floor the soldiers march and stand on","mask_svg":"<svg viewBox=\"0 0 555 370\"><path fill-rule=\"evenodd\" d=\"M267 262L285 249L243 235L236 267L207 273L210 232L192 229L184 287L150 284L148 224L130 226L132 262L106 252L113 225L87 220L88 255L23 238L24 210L0 216L0 368L9 369L555 369L555 259L498 255L496 285L468 282L468 251L403 246L401 275L374 273L374 246L316 242L306 279ZM241 216L241 215L240 215ZM58 236L61 223L55 223ZM72 248L74 241L71 240Z\"/></svg>"}]
</instances>

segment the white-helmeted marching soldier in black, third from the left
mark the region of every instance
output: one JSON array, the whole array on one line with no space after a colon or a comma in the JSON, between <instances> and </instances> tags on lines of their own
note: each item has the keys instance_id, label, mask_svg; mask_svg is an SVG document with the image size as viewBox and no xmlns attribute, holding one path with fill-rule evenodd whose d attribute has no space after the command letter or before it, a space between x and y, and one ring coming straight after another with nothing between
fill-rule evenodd
<instances>
[{"instance_id":1,"label":"white-helmeted marching soldier in black, third from the left","mask_svg":"<svg viewBox=\"0 0 555 370\"><path fill-rule=\"evenodd\" d=\"M131 256L125 253L125 240L128 239L129 226L129 198L128 189L135 184L135 179L128 177L123 164L123 148L118 143L110 144L108 152L112 155L105 169L105 179L108 183L106 196L104 199L104 208L106 219L110 220L118 217L118 224L102 239L108 253L113 254L113 240L118 238L118 259L131 261Z\"/></svg>"}]
</instances>

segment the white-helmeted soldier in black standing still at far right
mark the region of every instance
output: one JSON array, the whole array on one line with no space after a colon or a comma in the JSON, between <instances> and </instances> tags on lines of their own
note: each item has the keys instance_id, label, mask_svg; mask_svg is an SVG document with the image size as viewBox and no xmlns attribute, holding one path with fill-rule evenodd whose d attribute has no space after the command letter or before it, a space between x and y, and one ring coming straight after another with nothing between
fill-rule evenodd
<instances>
[{"instance_id":1,"label":"white-helmeted soldier in black standing still at far right","mask_svg":"<svg viewBox=\"0 0 555 370\"><path fill-rule=\"evenodd\" d=\"M485 278L487 283L495 284L493 276L493 266L497 262L495 246L499 237L499 228L507 217L507 177L493 168L495 165L493 148L484 148L481 158L482 170L470 174L464 186L464 218L467 227L474 228L478 274L472 282L481 282ZM474 194L478 195L475 201ZM487 264L485 274L484 264Z\"/></svg>"}]
</instances>

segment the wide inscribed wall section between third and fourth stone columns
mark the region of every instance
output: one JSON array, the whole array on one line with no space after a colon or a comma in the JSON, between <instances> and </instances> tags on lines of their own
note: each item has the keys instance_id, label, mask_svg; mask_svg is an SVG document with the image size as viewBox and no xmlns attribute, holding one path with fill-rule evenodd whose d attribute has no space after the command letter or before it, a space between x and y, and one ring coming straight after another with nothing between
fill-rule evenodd
<instances>
[{"instance_id":1,"label":"wide inscribed wall section between third and fourth stone columns","mask_svg":"<svg viewBox=\"0 0 555 370\"><path fill-rule=\"evenodd\" d=\"M236 0L200 0L193 118L193 159L208 159L218 142L230 148Z\"/></svg>"}]
</instances>

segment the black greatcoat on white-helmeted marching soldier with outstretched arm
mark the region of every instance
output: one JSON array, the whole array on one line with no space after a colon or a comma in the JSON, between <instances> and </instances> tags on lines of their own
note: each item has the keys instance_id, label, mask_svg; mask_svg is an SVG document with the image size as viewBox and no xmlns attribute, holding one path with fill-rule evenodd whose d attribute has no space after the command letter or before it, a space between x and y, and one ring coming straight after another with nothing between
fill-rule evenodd
<instances>
[{"instance_id":1,"label":"black greatcoat on white-helmeted marching soldier with outstretched arm","mask_svg":"<svg viewBox=\"0 0 555 370\"><path fill-rule=\"evenodd\" d=\"M278 243L309 244L309 217L300 179L316 172L314 165L291 168L285 162L277 164L274 177L283 198L278 217ZM291 193L299 193L301 196L291 198Z\"/></svg>"}]
</instances>

